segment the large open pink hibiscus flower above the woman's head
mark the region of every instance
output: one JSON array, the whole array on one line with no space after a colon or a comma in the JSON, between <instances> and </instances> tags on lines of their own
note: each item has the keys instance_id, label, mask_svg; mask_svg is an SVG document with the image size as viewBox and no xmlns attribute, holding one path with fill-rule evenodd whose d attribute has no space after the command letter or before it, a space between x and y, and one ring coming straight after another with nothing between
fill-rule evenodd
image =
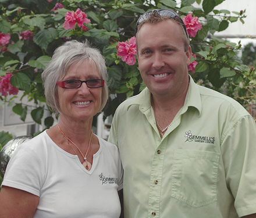
<instances>
[{"instance_id":1,"label":"large open pink hibiscus flower above the woman's head","mask_svg":"<svg viewBox=\"0 0 256 218\"><path fill-rule=\"evenodd\" d=\"M65 16L65 22L63 24L63 27L65 30L74 29L76 26L76 23L79 27L84 26L84 23L89 23L91 20L86 18L86 14L82 12L79 8L76 10L76 12L67 12Z\"/></svg>"}]
</instances>

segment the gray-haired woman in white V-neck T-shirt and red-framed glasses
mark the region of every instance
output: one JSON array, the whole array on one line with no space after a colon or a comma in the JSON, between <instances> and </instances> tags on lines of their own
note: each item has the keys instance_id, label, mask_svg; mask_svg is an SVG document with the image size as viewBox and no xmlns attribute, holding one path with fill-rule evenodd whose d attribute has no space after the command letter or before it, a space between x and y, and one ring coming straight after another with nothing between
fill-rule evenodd
<instances>
[{"instance_id":1,"label":"gray-haired woman in white V-neck T-shirt and red-framed glasses","mask_svg":"<svg viewBox=\"0 0 256 218\"><path fill-rule=\"evenodd\" d=\"M108 98L104 58L88 42L66 42L42 79L59 123L16 149L2 183L0 217L119 217L118 148L91 130Z\"/></svg>"}]
</instances>

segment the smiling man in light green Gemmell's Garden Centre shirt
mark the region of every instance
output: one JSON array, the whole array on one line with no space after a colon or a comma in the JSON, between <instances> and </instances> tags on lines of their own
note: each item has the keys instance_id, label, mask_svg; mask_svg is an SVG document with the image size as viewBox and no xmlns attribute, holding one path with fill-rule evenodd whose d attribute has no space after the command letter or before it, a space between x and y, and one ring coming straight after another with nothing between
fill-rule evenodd
<instances>
[{"instance_id":1,"label":"smiling man in light green Gemmell's Garden Centre shirt","mask_svg":"<svg viewBox=\"0 0 256 218\"><path fill-rule=\"evenodd\" d=\"M253 117L194 83L175 12L142 15L136 40L147 88L119 106L109 135L124 168L125 217L256 217Z\"/></svg>"}]
</instances>

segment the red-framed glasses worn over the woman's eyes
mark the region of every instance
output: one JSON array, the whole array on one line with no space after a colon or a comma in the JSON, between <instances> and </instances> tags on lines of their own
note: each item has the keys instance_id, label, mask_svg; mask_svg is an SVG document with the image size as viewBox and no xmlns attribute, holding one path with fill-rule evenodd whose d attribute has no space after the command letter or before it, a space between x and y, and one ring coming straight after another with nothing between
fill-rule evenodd
<instances>
[{"instance_id":1,"label":"red-framed glasses worn over the woman's eyes","mask_svg":"<svg viewBox=\"0 0 256 218\"><path fill-rule=\"evenodd\" d=\"M82 83L86 83L88 88L100 88L104 87L104 80L101 79L91 79L86 81L81 80L65 80L57 82L61 88L80 88Z\"/></svg>"}]
</instances>

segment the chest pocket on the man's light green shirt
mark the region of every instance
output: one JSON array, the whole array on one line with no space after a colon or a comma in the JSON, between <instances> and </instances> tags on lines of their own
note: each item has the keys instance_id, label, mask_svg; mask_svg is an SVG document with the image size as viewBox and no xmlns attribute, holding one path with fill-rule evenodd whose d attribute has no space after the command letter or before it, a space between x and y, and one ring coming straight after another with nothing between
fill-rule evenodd
<instances>
[{"instance_id":1,"label":"chest pocket on the man's light green shirt","mask_svg":"<svg viewBox=\"0 0 256 218\"><path fill-rule=\"evenodd\" d=\"M173 162L172 197L198 208L217 200L219 153L177 149Z\"/></svg>"}]
</instances>

